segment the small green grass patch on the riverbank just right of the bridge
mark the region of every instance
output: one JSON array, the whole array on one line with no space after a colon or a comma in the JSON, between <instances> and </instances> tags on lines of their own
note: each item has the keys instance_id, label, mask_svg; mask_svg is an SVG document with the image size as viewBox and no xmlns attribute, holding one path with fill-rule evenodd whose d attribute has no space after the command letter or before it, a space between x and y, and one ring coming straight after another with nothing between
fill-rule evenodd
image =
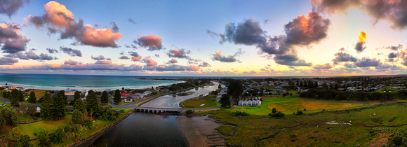
<instances>
[{"instance_id":1,"label":"small green grass patch on the riverbank just right of the bridge","mask_svg":"<svg viewBox=\"0 0 407 147\"><path fill-rule=\"evenodd\" d=\"M219 102L215 102L215 95L208 95L206 97L201 97L198 99L187 99L182 104L184 104L185 108L196 108L196 109L203 109L203 108L211 108L215 106L220 106ZM201 106L204 104L204 106Z\"/></svg>"}]
</instances>

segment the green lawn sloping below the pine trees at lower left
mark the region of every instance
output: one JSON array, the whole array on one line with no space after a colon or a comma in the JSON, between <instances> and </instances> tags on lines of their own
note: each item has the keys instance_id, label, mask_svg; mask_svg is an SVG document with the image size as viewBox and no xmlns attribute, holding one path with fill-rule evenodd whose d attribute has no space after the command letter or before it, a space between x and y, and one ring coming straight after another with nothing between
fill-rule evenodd
<instances>
[{"instance_id":1,"label":"green lawn sloping below the pine trees at lower left","mask_svg":"<svg viewBox=\"0 0 407 147\"><path fill-rule=\"evenodd\" d=\"M36 123L29 123L29 124L18 124L17 126L20 127L20 132L22 134L27 134L30 139L36 138L34 136L34 132L39 134L42 130L46 129L48 133L53 133L58 128L67 125L69 121L71 121L72 115L67 115L65 119L62 120L41 120Z\"/></svg>"}]
</instances>

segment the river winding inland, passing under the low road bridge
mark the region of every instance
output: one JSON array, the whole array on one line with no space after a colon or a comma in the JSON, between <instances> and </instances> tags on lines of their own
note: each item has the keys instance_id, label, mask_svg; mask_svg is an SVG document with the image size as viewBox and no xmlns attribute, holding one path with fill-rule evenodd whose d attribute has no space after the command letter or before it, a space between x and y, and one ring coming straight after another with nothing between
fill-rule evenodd
<instances>
[{"instance_id":1,"label":"river winding inland, passing under the low road bridge","mask_svg":"<svg viewBox=\"0 0 407 147\"><path fill-rule=\"evenodd\" d=\"M142 106L179 108L185 99L208 94L218 88L218 83L198 90L187 96L173 97L172 94L158 97ZM132 113L105 133L100 134L83 146L189 146L175 119L184 116L165 116L152 113ZM188 121L188 120L186 120Z\"/></svg>"}]
</instances>

